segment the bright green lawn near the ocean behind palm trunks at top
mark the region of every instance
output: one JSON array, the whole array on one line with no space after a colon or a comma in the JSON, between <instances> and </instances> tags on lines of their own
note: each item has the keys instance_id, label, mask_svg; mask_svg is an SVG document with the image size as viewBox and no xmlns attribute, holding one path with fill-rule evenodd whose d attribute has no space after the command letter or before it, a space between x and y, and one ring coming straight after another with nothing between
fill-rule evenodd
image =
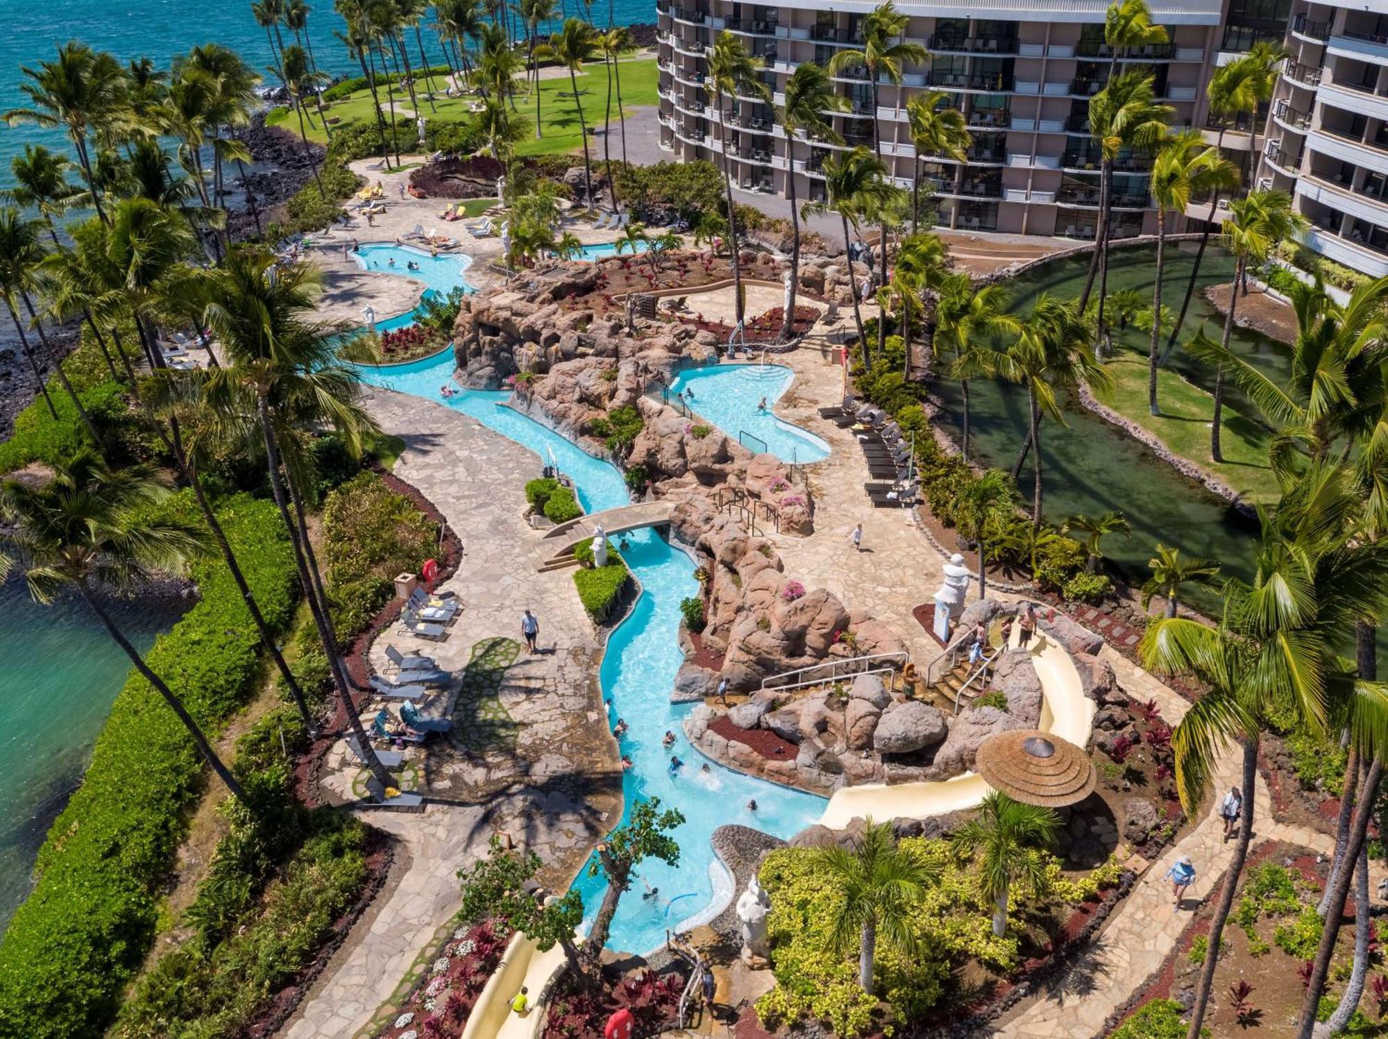
<instances>
[{"instance_id":1,"label":"bright green lawn near the ocean behind palm trunks at top","mask_svg":"<svg viewBox=\"0 0 1388 1039\"><path fill-rule=\"evenodd\" d=\"M659 99L655 93L654 58L622 61L620 64L623 110L630 114L633 107L655 106ZM583 93L582 101L583 117L587 119L589 126L601 126L608 97L607 71L602 68L601 63L587 65L586 71L579 75L579 90L587 92ZM516 96L516 111L512 114L512 118L529 128L527 138L516 146L516 154L558 156L577 151L583 146L583 139L579 133L577 106L575 104L573 97L561 96L572 93L573 89L569 85L569 78L564 76L562 79L541 79L539 99L536 99L534 94ZM387 101L384 89L380 90L380 99L382 106L384 107ZM405 108L409 107L408 93L397 89L396 100L397 104L401 104ZM534 136L534 110L537 100L540 106L540 128L543 133L539 139ZM466 104L468 101L458 97L436 99L434 111L430 111L429 103L421 100L421 107L423 108L423 117L426 119L446 119L454 122L461 122L469 118ZM372 113L371 106L371 90L366 89L358 90L340 101L335 101L328 111L329 115L337 117L340 122L333 124L333 128L346 128L359 122L373 122L376 117ZM323 125L318 119L318 114L308 110L304 113L304 125L308 131L310 140L316 140L321 144L325 143L328 140L328 135L323 132ZM618 107L613 90L613 122L616 121L616 117ZM272 126L283 126L293 133L298 132L298 117L287 108L276 108L269 114L266 122ZM593 157L600 158L601 142L590 136L589 144Z\"/></svg>"}]
</instances>

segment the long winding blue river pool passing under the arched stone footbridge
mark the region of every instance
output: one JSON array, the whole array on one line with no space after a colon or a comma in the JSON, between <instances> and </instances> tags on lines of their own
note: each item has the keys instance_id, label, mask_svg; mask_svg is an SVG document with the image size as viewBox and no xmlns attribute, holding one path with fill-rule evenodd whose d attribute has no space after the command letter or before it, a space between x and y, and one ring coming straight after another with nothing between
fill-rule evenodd
<instances>
[{"instance_id":1,"label":"long winding blue river pool passing under the arched stone footbridge","mask_svg":"<svg viewBox=\"0 0 1388 1039\"><path fill-rule=\"evenodd\" d=\"M378 386L440 400L439 386L452 375L452 353L412 364L364 369L364 378ZM508 393L468 390L447 399L448 407L464 411L537 456L550 460L552 451L561 472L573 478L579 500L589 511L626 504L630 497L618 469L525 415L502 407ZM518 475L519 478L519 475ZM612 700L609 721L620 717L630 726L622 736L622 753L633 768L626 772L622 792L627 808L640 799L659 797L662 806L684 814L675 836L680 843L679 865L643 863L632 889L623 896L608 943L613 949L650 951L665 940L666 928L698 917L709 907L715 885L726 892L726 870L716 863L709 838L726 822L741 822L788 838L815 822L824 801L813 795L790 790L762 779L731 772L719 765L700 772L704 757L684 739L682 721L691 707L675 706L669 692L683 661L676 639L682 599L698 593L694 563L680 549L652 531L629 535L625 553L644 593L632 614L612 632L602 658L602 695ZM672 750L661 746L666 731L679 738ZM684 761L679 775L670 775L669 760ZM748 800L756 811L748 811ZM575 881L589 915L602 899L601 879L584 870ZM658 893L643 897L648 890Z\"/></svg>"}]
</instances>

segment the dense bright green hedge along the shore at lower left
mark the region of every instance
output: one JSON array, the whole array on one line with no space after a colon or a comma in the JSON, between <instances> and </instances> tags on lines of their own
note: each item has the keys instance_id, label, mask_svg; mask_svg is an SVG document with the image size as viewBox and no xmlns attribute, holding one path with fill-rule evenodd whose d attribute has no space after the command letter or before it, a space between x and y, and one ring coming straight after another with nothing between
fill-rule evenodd
<instances>
[{"instance_id":1,"label":"dense bright green hedge along the shore at lower left","mask_svg":"<svg viewBox=\"0 0 1388 1039\"><path fill-rule=\"evenodd\" d=\"M186 492L167 508L196 521ZM282 631L296 575L275 506L236 497L218 514L265 620ZM255 689L260 640L219 557L196 564L193 576L200 601L146 660L215 731ZM110 1024L154 938L162 881L203 775L186 729L132 674L82 788L39 851L37 886L0 942L0 1035L67 1039Z\"/></svg>"}]
</instances>

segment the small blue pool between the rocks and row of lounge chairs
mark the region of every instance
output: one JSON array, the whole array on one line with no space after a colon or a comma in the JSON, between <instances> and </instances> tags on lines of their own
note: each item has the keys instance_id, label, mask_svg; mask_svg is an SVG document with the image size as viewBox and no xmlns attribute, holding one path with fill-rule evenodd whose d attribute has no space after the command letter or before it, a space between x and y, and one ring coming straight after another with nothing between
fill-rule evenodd
<instances>
[{"instance_id":1,"label":"small blue pool between the rocks and row of lounge chairs","mask_svg":"<svg viewBox=\"0 0 1388 1039\"><path fill-rule=\"evenodd\" d=\"M794 381L795 374L783 364L713 364L680 372L670 389L693 389L688 406L694 414L754 451L766 450L791 463L823 461L830 451L823 439L772 414ZM765 410L758 407L763 400Z\"/></svg>"}]
</instances>

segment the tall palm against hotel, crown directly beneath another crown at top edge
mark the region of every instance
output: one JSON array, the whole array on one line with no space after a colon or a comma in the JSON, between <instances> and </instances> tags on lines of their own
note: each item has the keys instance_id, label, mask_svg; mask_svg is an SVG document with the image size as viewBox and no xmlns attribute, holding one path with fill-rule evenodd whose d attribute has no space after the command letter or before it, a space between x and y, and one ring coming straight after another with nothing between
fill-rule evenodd
<instances>
[{"instance_id":1,"label":"tall palm against hotel, crown directly beneath another crown at top edge","mask_svg":"<svg viewBox=\"0 0 1388 1039\"><path fill-rule=\"evenodd\" d=\"M1141 3L1141 0L1128 0ZM1165 33L1163 33L1165 36ZM1099 228L1090 274L1080 292L1080 310L1090 301L1095 272L1099 282L1098 332L1103 333L1103 297L1108 294L1109 233L1113 224L1113 164L1124 150L1151 149L1166 136L1174 108L1156 101L1152 76L1141 69L1112 75L1090 99L1090 135L1099 146Z\"/></svg>"}]
</instances>

